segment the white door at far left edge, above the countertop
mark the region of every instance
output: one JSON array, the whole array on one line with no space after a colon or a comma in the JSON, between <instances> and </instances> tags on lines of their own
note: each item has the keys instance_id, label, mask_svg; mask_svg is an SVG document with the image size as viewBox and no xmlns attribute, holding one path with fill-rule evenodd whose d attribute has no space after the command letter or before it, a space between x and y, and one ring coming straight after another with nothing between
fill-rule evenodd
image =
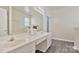
<instances>
[{"instance_id":1,"label":"white door at far left edge, above the countertop","mask_svg":"<svg viewBox=\"0 0 79 59\"><path fill-rule=\"evenodd\" d=\"M0 36L7 35L7 10L0 8Z\"/></svg>"}]
</instances>

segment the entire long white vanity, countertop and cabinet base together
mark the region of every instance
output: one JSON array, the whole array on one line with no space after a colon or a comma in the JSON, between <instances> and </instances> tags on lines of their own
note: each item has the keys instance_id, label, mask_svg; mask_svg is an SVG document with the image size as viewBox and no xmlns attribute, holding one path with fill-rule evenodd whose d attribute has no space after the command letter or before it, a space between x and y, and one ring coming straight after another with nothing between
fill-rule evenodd
<instances>
[{"instance_id":1,"label":"entire long white vanity, countertop and cabinet base together","mask_svg":"<svg viewBox=\"0 0 79 59\"><path fill-rule=\"evenodd\" d=\"M2 53L35 53L35 50L46 52L51 45L50 33L47 32L35 35L23 33L0 39L3 41L0 43L0 52Z\"/></svg>"}]
</instances>

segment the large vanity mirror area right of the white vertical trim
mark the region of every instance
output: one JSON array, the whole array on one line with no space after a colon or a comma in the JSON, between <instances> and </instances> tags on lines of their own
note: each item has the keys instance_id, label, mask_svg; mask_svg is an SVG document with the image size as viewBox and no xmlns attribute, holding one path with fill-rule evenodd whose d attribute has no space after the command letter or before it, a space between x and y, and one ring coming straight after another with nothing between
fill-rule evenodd
<instances>
[{"instance_id":1,"label":"large vanity mirror area right of the white vertical trim","mask_svg":"<svg viewBox=\"0 0 79 59\"><path fill-rule=\"evenodd\" d=\"M30 13L28 13L25 6L12 7L12 34L29 32L30 23L33 25L33 29L43 30L43 15L33 7L30 8Z\"/></svg>"}]
</instances>

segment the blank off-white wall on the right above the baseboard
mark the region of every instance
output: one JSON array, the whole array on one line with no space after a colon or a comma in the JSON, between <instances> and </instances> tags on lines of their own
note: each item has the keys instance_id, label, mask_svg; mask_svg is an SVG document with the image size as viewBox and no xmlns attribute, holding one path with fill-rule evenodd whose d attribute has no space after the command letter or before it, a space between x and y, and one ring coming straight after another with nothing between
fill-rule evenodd
<instances>
[{"instance_id":1,"label":"blank off-white wall on the right above the baseboard","mask_svg":"<svg viewBox=\"0 0 79 59\"><path fill-rule=\"evenodd\" d=\"M75 27L79 27L79 7L52 10L53 37L72 40Z\"/></svg>"}]
</instances>

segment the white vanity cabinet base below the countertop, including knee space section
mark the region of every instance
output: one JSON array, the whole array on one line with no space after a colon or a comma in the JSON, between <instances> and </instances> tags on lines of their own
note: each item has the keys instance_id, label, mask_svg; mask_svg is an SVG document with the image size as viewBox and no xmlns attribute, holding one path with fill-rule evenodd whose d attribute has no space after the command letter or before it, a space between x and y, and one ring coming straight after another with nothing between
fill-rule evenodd
<instances>
[{"instance_id":1,"label":"white vanity cabinet base below the countertop, including knee space section","mask_svg":"<svg viewBox=\"0 0 79 59\"><path fill-rule=\"evenodd\" d=\"M46 52L52 42L49 33L44 33L33 39L34 39L33 42L29 42L28 44L18 47L10 51L9 53L35 53L35 50Z\"/></svg>"}]
</instances>

